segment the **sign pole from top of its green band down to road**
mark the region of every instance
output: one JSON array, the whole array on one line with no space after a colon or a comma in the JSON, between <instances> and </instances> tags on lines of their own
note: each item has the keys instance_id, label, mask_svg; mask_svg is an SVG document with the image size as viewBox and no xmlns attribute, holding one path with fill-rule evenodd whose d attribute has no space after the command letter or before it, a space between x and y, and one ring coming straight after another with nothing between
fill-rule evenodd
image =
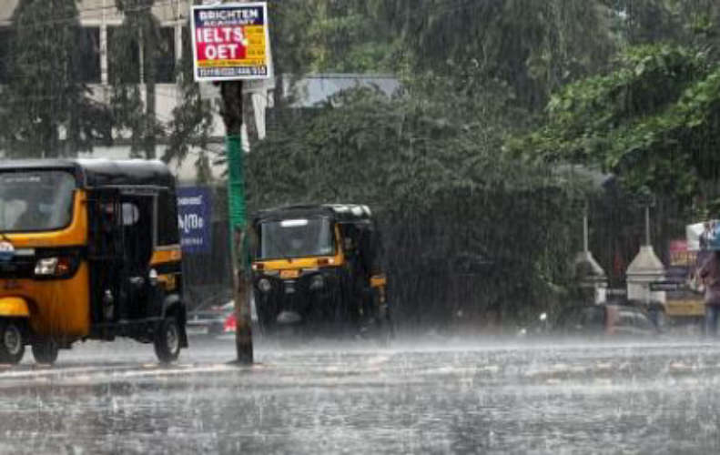
<instances>
[{"instance_id":1,"label":"sign pole from top of its green band down to road","mask_svg":"<svg viewBox=\"0 0 720 455\"><path fill-rule=\"evenodd\" d=\"M228 152L228 218L231 233L230 256L233 268L235 298L235 346L239 364L253 362L250 316L248 255L245 251L248 221L245 207L245 163L240 136L227 136Z\"/></svg>"}]
</instances>

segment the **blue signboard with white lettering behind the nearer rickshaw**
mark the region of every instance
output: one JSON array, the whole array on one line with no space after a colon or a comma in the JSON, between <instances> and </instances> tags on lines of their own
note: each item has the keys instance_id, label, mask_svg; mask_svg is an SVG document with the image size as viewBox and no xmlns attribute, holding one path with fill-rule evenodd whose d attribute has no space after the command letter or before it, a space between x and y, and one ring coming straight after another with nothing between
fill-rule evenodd
<instances>
[{"instance_id":1,"label":"blue signboard with white lettering behind the nearer rickshaw","mask_svg":"<svg viewBox=\"0 0 720 455\"><path fill-rule=\"evenodd\" d=\"M207 187L177 188L177 223L185 253L209 253L212 199Z\"/></svg>"}]
</instances>

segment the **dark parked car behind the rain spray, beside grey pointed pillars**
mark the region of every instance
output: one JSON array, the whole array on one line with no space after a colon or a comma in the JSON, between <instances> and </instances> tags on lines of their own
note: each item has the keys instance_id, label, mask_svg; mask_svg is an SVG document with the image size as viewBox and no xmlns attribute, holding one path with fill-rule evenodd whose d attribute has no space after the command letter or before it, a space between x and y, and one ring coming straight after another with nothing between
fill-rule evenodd
<instances>
[{"instance_id":1,"label":"dark parked car behind the rain spray, beside grey pointed pillars","mask_svg":"<svg viewBox=\"0 0 720 455\"><path fill-rule=\"evenodd\" d=\"M564 308L553 326L553 334L563 336L646 338L659 333L641 308L616 304Z\"/></svg>"}]
</instances>

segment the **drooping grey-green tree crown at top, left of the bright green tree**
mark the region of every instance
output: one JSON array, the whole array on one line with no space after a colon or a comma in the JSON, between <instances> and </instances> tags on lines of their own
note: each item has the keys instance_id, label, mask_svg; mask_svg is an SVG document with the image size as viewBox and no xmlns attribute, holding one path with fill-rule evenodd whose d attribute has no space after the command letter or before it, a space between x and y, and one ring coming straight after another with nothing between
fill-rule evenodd
<instances>
[{"instance_id":1,"label":"drooping grey-green tree crown at top, left of the bright green tree","mask_svg":"<svg viewBox=\"0 0 720 455\"><path fill-rule=\"evenodd\" d=\"M413 73L451 75L476 62L505 83L518 106L543 109L568 81L593 74L613 52L608 9L588 0L399 0L372 2L400 30Z\"/></svg>"}]
</instances>

